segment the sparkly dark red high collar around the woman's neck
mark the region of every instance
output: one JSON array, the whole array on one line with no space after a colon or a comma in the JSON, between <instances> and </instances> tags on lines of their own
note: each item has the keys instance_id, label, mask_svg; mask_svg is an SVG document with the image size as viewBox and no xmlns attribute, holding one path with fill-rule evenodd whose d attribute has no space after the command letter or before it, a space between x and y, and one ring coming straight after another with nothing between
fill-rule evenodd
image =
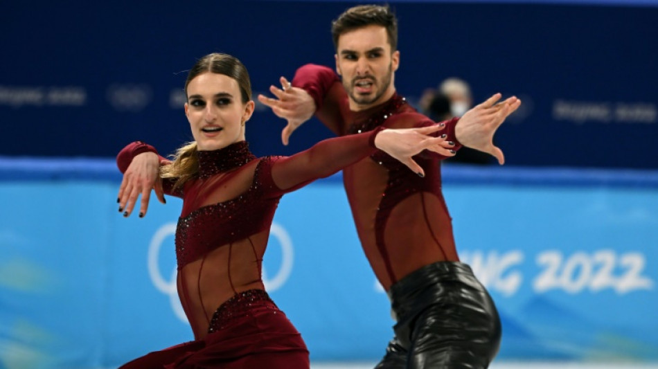
<instances>
[{"instance_id":1,"label":"sparkly dark red high collar around the woman's neck","mask_svg":"<svg viewBox=\"0 0 658 369\"><path fill-rule=\"evenodd\" d=\"M240 141L231 143L222 149L212 151L200 151L199 154L199 178L205 179L221 172L241 167L256 159L249 151L249 143Z\"/></svg>"}]
</instances>

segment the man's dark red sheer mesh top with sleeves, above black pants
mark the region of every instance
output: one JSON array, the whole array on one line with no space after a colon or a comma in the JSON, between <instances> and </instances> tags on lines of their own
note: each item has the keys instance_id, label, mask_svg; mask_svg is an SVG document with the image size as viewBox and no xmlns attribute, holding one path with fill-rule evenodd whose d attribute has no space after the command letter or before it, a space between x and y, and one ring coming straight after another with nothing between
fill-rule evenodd
<instances>
[{"instance_id":1,"label":"man's dark red sheer mesh top with sleeves, above black pants","mask_svg":"<svg viewBox=\"0 0 658 369\"><path fill-rule=\"evenodd\" d=\"M298 69L292 84L308 91L316 116L339 135L360 134L377 127L404 128L436 124L418 114L398 95L364 111L350 111L337 75L324 66ZM456 143L457 119L444 122L448 141ZM344 186L364 253L384 289L427 264L457 261L452 219L441 191L441 160L423 152L414 156L425 170L418 175L384 152L377 151L343 170Z\"/></svg>"}]
</instances>

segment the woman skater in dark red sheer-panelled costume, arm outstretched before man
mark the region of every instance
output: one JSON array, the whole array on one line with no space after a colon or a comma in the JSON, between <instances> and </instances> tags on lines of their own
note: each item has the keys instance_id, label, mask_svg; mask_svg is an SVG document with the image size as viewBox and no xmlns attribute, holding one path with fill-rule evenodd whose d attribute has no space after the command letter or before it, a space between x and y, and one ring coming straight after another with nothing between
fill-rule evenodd
<instances>
[{"instance_id":1,"label":"woman skater in dark red sheer-panelled costume, arm outstretched before man","mask_svg":"<svg viewBox=\"0 0 658 369\"><path fill-rule=\"evenodd\" d=\"M123 181L119 211L139 216L151 189L181 197L176 229L177 289L194 341L134 359L122 369L309 368L296 328L269 298L263 254L279 199L314 179L383 150L411 170L423 150L452 155L452 143L429 136L441 126L377 129L330 138L292 156L257 158L245 140L254 112L247 69L231 55L202 57L185 83L185 114L195 139L172 161L154 147L130 143L117 156ZM438 136L438 135L435 135Z\"/></svg>"}]
</instances>

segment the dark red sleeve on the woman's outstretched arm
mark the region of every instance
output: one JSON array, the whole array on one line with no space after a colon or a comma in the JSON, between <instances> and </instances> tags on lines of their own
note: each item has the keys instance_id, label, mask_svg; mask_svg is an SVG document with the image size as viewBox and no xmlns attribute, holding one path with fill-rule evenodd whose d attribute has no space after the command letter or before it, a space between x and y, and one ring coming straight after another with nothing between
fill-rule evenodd
<instances>
[{"instance_id":1,"label":"dark red sleeve on the woman's outstretched arm","mask_svg":"<svg viewBox=\"0 0 658 369\"><path fill-rule=\"evenodd\" d=\"M328 138L310 149L292 156L281 156L272 165L272 195L291 192L315 179L328 177L377 151L375 136L384 127L371 132Z\"/></svg>"}]
</instances>

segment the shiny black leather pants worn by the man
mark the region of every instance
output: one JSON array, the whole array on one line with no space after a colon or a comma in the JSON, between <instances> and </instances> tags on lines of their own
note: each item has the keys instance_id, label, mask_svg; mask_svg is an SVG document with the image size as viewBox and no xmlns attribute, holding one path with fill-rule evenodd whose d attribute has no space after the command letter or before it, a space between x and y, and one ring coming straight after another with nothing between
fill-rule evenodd
<instances>
[{"instance_id":1,"label":"shiny black leather pants worn by the man","mask_svg":"<svg viewBox=\"0 0 658 369\"><path fill-rule=\"evenodd\" d=\"M498 312L467 264L429 264L391 286L389 297L398 323L375 369L487 368L498 353Z\"/></svg>"}]
</instances>

